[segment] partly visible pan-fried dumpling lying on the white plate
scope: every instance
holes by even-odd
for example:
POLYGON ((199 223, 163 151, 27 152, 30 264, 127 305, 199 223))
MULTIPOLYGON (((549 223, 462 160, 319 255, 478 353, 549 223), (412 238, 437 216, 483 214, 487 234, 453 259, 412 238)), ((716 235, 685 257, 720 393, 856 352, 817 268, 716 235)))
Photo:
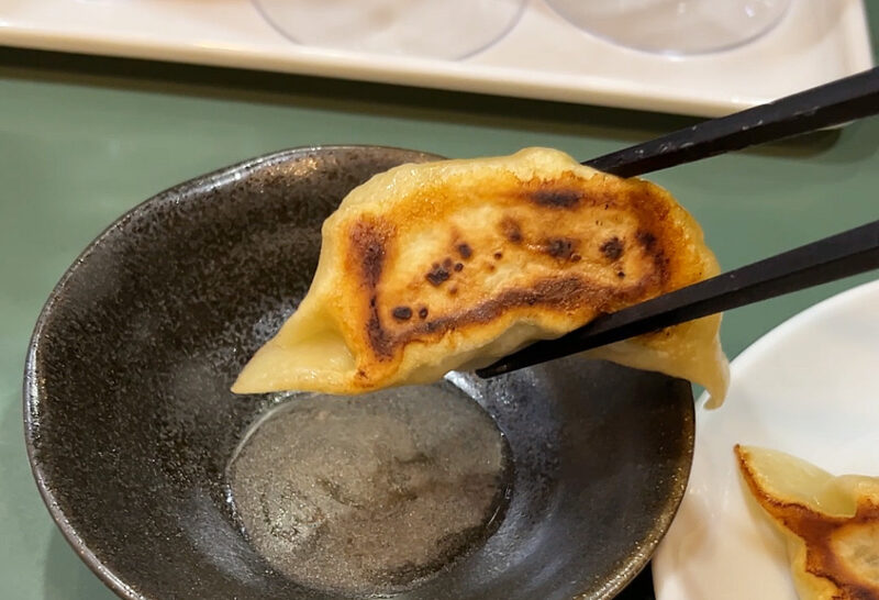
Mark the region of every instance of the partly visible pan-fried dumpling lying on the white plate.
POLYGON ((801 600, 879 598, 879 477, 834 477, 777 451, 736 446, 752 495, 788 542, 801 600))

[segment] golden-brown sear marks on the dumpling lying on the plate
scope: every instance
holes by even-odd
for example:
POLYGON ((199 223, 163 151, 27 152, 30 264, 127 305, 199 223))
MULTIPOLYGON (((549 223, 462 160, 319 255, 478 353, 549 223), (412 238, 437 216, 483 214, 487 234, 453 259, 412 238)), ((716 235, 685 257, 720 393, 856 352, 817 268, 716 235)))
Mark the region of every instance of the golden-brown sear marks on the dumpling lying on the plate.
MULTIPOLYGON (((757 502, 805 544, 805 569, 833 582, 838 589, 835 600, 876 600, 879 580, 865 577, 858 565, 839 556, 836 546, 849 537, 879 535, 879 505, 861 499, 854 516, 831 516, 797 502, 769 495, 758 482, 746 451, 736 444, 739 470, 757 502), (866 534, 865 534, 866 530, 866 534)), ((872 567, 879 570, 879 566, 872 567)))

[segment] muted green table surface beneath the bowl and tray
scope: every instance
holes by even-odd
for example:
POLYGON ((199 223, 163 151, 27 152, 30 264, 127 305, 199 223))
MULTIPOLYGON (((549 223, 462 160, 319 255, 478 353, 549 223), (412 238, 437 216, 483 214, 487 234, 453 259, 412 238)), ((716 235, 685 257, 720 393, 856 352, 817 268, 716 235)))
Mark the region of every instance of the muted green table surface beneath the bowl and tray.
MULTIPOLYGON (((879 40, 879 3, 868 2, 879 40)), ((22 370, 47 295, 111 221, 177 182, 259 154, 382 144, 449 157, 523 146, 586 159, 694 121, 646 112, 0 47, 0 598, 115 598, 77 558, 33 482, 22 370)), ((879 119, 650 178, 724 268, 879 218, 879 119)), ((735 357, 861 276, 738 309, 735 357)), ((624 593, 648 598, 649 576, 624 593)))

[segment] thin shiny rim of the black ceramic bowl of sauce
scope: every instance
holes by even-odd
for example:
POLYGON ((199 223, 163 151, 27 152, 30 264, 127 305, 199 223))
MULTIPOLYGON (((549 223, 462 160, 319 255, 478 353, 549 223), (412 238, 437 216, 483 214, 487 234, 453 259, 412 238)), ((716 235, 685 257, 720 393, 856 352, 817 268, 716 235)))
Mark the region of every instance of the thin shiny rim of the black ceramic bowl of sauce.
MULTIPOLYGON (((158 193, 138 202, 134 207, 127 209, 112 223, 110 223, 103 231, 101 231, 82 252, 77 255, 74 262, 60 276, 43 308, 40 311, 33 333, 27 344, 27 353, 24 362, 24 379, 22 386, 22 408, 23 408, 23 425, 24 425, 24 442, 27 454, 27 463, 31 467, 31 474, 36 482, 40 497, 43 503, 48 509, 49 515, 55 524, 60 530, 64 538, 73 547, 79 558, 97 575, 113 592, 120 598, 125 600, 156 600, 144 596, 136 591, 134 588, 125 584, 113 569, 103 564, 98 556, 88 547, 86 542, 79 535, 74 525, 70 524, 67 515, 59 507, 53 491, 49 489, 46 475, 43 471, 42 463, 36 452, 36 441, 38 437, 38 413, 40 404, 43 398, 38 389, 38 373, 37 373, 37 354, 42 346, 44 330, 47 326, 55 305, 59 297, 64 292, 68 282, 76 276, 80 265, 88 260, 94 252, 101 247, 105 240, 112 236, 120 227, 130 222, 131 220, 140 216, 148 211, 153 204, 160 203, 173 197, 181 197, 199 191, 200 188, 210 188, 216 185, 229 184, 242 178, 242 174, 248 175, 248 171, 257 170, 268 166, 274 166, 291 158, 303 155, 324 153, 324 152, 338 152, 338 151, 385 151, 392 153, 408 154, 410 156, 421 155, 429 159, 442 160, 445 157, 427 153, 423 151, 402 148, 398 146, 376 145, 376 144, 316 144, 310 146, 296 146, 285 148, 281 151, 263 154, 253 158, 241 160, 232 165, 221 167, 219 169, 205 173, 187 179, 173 187, 166 188, 158 193)), ((696 407, 692 401, 692 389, 689 393, 691 401, 686 404, 686 419, 681 423, 685 425, 680 434, 685 437, 686 452, 681 457, 681 471, 680 476, 675 478, 675 484, 671 486, 670 493, 665 502, 664 510, 657 514, 654 520, 653 526, 645 532, 643 548, 645 552, 632 553, 625 557, 617 567, 616 575, 608 580, 607 585, 600 591, 600 598, 610 599, 620 593, 632 580, 649 564, 650 558, 656 551, 659 542, 663 540, 665 533, 671 525, 671 521, 677 513, 683 495, 687 489, 690 469, 692 467, 692 456, 694 446, 694 430, 696 430, 696 407), (689 426, 686 426, 689 424, 689 426)), ((589 592, 578 595, 571 600, 583 600, 588 597, 589 592)))

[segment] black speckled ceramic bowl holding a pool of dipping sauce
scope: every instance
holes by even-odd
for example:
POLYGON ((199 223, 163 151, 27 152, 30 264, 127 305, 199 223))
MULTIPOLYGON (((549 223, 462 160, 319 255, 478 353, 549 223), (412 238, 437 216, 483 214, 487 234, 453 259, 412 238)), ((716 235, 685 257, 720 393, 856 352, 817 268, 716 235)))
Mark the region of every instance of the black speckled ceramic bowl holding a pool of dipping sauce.
MULTIPOLYGON (((346 192, 429 158, 305 148, 223 169, 132 210, 58 284, 27 356, 27 449, 58 526, 121 597, 334 597, 286 579, 241 533, 224 469, 276 399, 229 387, 308 289, 346 192)), ((483 545, 397 597, 614 596, 683 493, 689 385, 578 358, 458 384, 507 434, 510 504, 483 545)))

